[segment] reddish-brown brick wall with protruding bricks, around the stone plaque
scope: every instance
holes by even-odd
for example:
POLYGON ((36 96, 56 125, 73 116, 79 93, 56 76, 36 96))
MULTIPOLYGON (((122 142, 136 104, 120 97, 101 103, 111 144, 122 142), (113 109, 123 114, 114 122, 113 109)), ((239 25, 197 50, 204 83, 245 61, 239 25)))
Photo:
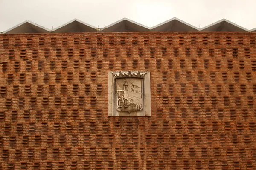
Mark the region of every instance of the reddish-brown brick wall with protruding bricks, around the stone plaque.
POLYGON ((0 169, 256 169, 256 34, 0 35, 0 169), (151 117, 108 117, 108 71, 151 117))

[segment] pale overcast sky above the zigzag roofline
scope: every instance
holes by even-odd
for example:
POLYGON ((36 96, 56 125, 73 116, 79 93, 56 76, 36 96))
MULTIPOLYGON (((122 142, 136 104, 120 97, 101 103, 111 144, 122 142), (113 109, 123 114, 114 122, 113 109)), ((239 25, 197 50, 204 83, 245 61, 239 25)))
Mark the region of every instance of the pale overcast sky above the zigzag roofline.
POLYGON ((103 28, 122 18, 152 27, 173 17, 203 28, 223 18, 256 28, 256 0, 0 0, 0 32, 30 20, 48 29, 77 18, 103 28))

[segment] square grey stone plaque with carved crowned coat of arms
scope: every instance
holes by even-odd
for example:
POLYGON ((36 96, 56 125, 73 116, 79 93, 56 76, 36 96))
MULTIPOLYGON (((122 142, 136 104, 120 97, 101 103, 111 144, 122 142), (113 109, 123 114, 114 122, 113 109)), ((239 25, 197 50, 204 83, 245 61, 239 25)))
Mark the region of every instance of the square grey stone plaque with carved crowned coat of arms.
POLYGON ((108 73, 108 116, 150 116, 150 102, 150 72, 108 73))

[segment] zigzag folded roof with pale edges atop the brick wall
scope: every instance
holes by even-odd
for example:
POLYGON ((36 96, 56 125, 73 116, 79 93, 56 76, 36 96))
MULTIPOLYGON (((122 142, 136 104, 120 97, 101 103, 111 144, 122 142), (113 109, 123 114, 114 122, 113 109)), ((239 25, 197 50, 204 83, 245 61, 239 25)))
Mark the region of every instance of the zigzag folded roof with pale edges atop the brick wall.
POLYGON ((73 19, 52 30, 33 23, 29 20, 24 21, 6 31, 3 34, 22 34, 22 33, 75 33, 75 32, 256 32, 256 28, 248 30, 229 20, 222 19, 215 23, 197 28, 176 17, 160 23, 153 27, 147 27, 135 21, 123 18, 104 28, 97 28, 81 20, 73 19))

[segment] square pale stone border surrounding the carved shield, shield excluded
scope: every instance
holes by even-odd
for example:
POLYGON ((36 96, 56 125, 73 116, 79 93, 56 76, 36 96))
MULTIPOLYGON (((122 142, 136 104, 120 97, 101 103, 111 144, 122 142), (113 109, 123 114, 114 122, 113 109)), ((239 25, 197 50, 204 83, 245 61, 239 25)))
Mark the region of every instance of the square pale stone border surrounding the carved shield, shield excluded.
MULTIPOLYGON (((121 71, 127 72, 127 71, 121 71)), ((133 73, 133 71, 131 71, 133 73)), ((137 71, 134 71, 137 73, 137 71)), ((143 78, 143 108, 141 111, 117 111, 116 110, 116 79, 113 74, 117 74, 119 71, 108 72, 108 116, 151 116, 151 83, 150 72, 140 72, 145 74, 143 78)), ((129 79, 128 77, 124 77, 129 79)), ((131 77, 136 78, 136 77, 131 77)))

